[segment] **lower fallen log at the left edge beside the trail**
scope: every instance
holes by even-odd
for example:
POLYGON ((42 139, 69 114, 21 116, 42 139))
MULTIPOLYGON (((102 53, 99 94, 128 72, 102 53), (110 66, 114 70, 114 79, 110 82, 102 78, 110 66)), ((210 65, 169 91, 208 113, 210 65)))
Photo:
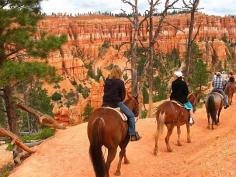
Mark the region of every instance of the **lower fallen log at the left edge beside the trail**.
POLYGON ((14 133, 7 131, 3 128, 0 128, 0 136, 4 136, 4 137, 8 137, 12 140, 11 144, 15 144, 16 146, 18 146, 19 148, 23 149, 24 151, 28 152, 28 153, 34 153, 35 151, 30 149, 28 146, 26 146, 21 140, 20 138, 15 135, 14 133))

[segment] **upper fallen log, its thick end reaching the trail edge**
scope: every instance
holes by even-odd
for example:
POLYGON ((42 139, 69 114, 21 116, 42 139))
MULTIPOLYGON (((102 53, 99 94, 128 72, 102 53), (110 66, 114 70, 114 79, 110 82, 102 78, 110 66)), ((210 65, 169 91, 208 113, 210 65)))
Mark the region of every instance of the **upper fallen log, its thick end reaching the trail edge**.
POLYGON ((25 104, 22 104, 22 103, 18 103, 16 106, 17 106, 17 108, 20 108, 26 112, 33 114, 36 117, 39 124, 46 125, 48 127, 55 128, 55 129, 65 129, 66 128, 64 124, 59 124, 53 117, 51 117, 48 114, 43 114, 40 111, 35 110, 35 109, 33 109, 29 106, 26 106, 25 104))

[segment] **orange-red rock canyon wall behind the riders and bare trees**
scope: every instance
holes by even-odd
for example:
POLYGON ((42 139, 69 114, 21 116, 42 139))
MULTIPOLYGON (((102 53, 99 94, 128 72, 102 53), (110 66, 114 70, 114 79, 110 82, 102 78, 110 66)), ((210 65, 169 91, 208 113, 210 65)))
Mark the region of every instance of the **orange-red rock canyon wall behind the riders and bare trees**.
MULTIPOLYGON (((167 23, 164 25, 156 49, 168 53, 177 48, 183 57, 189 19, 188 14, 168 16, 166 21, 171 25, 167 25, 167 23)), ((154 23, 157 24, 157 22, 158 17, 155 17, 154 23)), ((89 61, 94 61, 93 68, 95 70, 103 68, 105 76, 108 72, 104 70, 104 67, 110 64, 119 64, 122 68, 126 67, 127 58, 116 50, 117 46, 129 42, 131 39, 132 26, 126 18, 49 16, 41 20, 38 26, 41 31, 46 31, 49 34, 67 35, 68 42, 62 46, 60 51, 51 53, 48 58, 48 63, 55 66, 58 73, 65 76, 65 78, 73 78, 76 81, 85 83, 88 80, 88 70, 85 65, 89 61), (101 55, 101 48, 105 41, 108 41, 113 47, 107 47, 104 55, 101 55)), ((144 45, 148 43, 146 26, 147 24, 144 23, 140 30, 140 40, 144 45)), ((203 58, 211 63, 213 50, 215 50, 218 58, 225 60, 227 47, 221 38, 226 35, 232 42, 236 42, 236 18, 208 16, 198 13, 194 35, 198 28, 199 33, 196 36, 196 42, 203 52, 203 58)), ((128 45, 124 45, 123 49, 127 50, 127 47, 128 45)), ((81 110, 80 112, 82 112, 86 103, 90 103, 94 108, 101 105, 103 85, 96 84, 94 81, 88 87, 90 96, 85 101, 79 101, 78 109, 81 110)), ((81 115, 82 113, 80 113, 81 115)))

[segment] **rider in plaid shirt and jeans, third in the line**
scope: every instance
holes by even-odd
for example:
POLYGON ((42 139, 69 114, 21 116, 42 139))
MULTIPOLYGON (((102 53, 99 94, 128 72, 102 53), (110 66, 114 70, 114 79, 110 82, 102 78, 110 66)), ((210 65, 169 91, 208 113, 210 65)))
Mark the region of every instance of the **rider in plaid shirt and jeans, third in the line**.
POLYGON ((225 95, 225 92, 223 90, 224 84, 225 84, 224 82, 225 81, 222 78, 221 73, 217 72, 216 77, 214 77, 213 81, 212 81, 212 86, 213 86, 212 92, 220 92, 221 93, 221 95, 224 97, 224 108, 226 109, 229 107, 229 104, 228 104, 228 98, 225 95))

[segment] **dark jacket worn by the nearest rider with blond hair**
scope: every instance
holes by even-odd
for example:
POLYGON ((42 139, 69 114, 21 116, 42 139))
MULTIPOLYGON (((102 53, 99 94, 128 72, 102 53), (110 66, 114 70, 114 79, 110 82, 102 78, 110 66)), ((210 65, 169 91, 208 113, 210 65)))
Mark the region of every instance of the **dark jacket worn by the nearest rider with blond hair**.
POLYGON ((118 107, 117 103, 125 99, 125 84, 120 79, 106 79, 104 85, 103 106, 118 107))

